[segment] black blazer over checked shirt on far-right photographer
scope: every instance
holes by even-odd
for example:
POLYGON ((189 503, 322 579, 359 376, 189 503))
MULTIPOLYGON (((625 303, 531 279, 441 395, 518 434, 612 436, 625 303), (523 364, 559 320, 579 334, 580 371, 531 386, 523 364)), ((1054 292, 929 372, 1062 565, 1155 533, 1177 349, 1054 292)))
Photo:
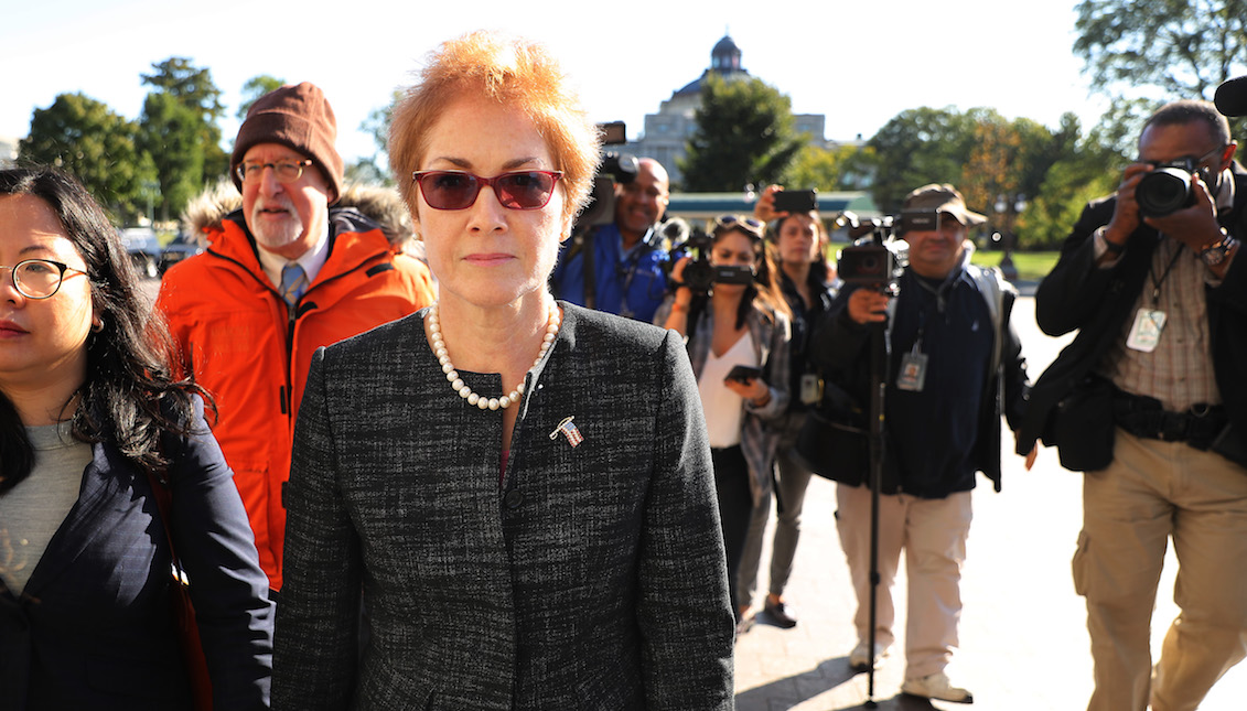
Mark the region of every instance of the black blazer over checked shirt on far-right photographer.
MULTIPOLYGON (((1240 241, 1247 239, 1247 172, 1233 163, 1235 205, 1218 221, 1240 241)), ((1152 252, 1160 238, 1142 225, 1126 242, 1121 261, 1110 269, 1095 266, 1095 231, 1112 218, 1115 197, 1091 202, 1061 246, 1061 258, 1035 293, 1035 318, 1049 336, 1079 334, 1031 388, 1019 450, 1041 438, 1056 444, 1051 425, 1057 403, 1094 372, 1119 339, 1126 319, 1148 278, 1152 252)), ((1247 254, 1235 256, 1217 287, 1206 287, 1208 332, 1217 388, 1243 447, 1247 447, 1247 379, 1238 368, 1247 363, 1247 254)))

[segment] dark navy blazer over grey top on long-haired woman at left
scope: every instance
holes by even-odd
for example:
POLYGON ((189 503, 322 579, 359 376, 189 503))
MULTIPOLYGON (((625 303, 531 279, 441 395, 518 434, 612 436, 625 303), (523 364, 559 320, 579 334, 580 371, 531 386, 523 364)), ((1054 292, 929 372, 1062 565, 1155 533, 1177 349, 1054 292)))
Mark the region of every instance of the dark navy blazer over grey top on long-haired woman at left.
MULTIPOLYGON (((170 467, 182 559, 217 709, 268 707, 273 617, 233 474, 196 399, 170 467)), ((170 438, 172 439, 172 438, 170 438)), ((35 485, 26 480, 19 485, 35 485)), ((0 710, 187 710, 172 558, 147 475, 94 445, 79 500, 21 596, 0 583, 0 710)))

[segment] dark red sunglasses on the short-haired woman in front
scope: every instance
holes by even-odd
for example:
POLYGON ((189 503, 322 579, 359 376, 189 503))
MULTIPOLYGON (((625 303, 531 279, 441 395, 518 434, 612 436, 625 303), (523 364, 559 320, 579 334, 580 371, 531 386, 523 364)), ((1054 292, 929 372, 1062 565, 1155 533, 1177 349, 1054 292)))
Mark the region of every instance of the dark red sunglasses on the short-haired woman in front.
POLYGON ((562 177, 556 171, 511 171, 491 178, 463 171, 415 171, 424 202, 434 210, 466 210, 476 202, 480 188, 493 186, 498 202, 508 210, 541 210, 554 196, 562 177))

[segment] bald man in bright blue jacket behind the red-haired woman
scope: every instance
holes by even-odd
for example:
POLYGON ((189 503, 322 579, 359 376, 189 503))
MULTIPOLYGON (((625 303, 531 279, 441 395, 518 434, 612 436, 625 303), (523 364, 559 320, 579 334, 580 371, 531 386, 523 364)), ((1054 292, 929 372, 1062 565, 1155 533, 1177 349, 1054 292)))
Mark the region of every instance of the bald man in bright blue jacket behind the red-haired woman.
POLYGON ((671 200, 666 168, 637 160, 637 172, 615 190, 615 220, 576 235, 550 277, 555 297, 650 322, 667 292, 668 256, 657 232, 671 200))

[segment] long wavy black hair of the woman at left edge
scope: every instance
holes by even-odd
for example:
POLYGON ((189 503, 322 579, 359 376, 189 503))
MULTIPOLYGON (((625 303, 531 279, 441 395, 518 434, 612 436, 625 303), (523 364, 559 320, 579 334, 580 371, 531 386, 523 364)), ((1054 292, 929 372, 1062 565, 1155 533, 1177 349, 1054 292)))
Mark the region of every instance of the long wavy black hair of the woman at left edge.
MULTIPOLYGON (((138 276, 104 208, 74 177, 49 167, 0 171, 0 197, 29 195, 56 215, 86 262, 91 306, 102 322, 86 341, 86 382, 71 420, 74 437, 107 442, 148 470, 168 460, 162 433, 190 434, 191 380, 173 377, 173 344, 161 316, 140 293, 138 276)), ((74 402, 65 403, 69 407, 74 402)), ((0 390, 0 495, 30 475, 34 449, 12 402, 0 390)))

